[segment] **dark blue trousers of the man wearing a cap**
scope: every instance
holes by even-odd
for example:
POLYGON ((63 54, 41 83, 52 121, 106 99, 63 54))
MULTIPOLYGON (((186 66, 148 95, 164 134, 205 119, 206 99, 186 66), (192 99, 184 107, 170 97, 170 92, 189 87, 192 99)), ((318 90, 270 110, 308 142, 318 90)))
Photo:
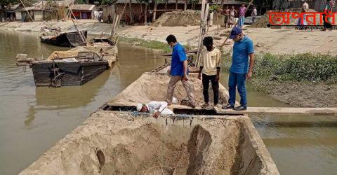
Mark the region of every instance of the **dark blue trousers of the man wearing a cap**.
POLYGON ((230 72, 230 80, 228 81, 228 92, 230 93, 230 99, 228 103, 231 106, 235 104, 236 89, 240 94, 240 104, 241 106, 247 106, 247 95, 246 95, 246 73, 233 73, 230 72))

